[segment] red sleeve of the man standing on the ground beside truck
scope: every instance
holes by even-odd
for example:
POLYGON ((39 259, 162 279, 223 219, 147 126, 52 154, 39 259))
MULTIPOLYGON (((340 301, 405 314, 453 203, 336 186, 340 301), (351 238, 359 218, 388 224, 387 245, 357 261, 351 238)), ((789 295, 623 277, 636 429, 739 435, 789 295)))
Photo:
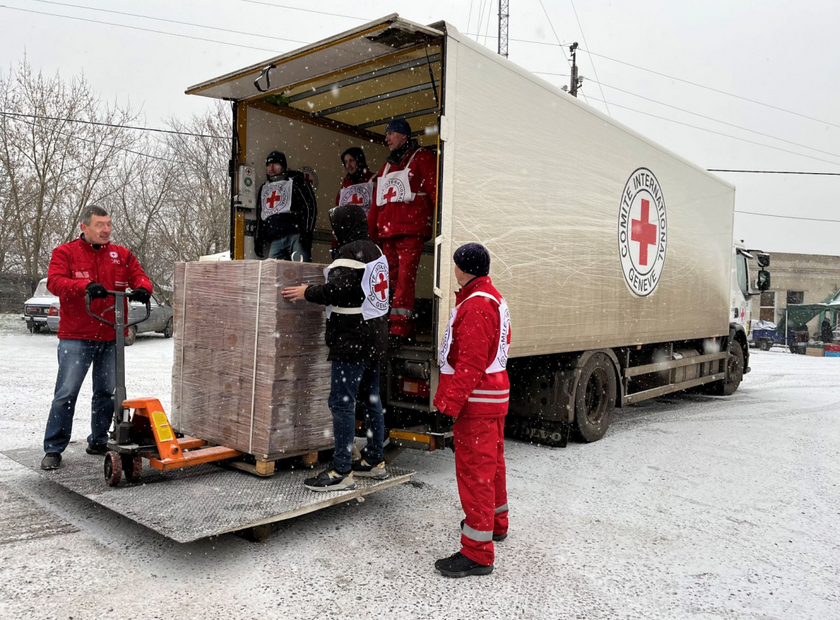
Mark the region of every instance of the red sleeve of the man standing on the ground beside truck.
POLYGON ((490 308, 492 302, 474 300, 462 306, 456 319, 453 339, 458 343, 455 374, 447 382, 446 390, 438 390, 434 405, 446 415, 458 417, 470 394, 484 376, 496 347, 499 312, 490 308))

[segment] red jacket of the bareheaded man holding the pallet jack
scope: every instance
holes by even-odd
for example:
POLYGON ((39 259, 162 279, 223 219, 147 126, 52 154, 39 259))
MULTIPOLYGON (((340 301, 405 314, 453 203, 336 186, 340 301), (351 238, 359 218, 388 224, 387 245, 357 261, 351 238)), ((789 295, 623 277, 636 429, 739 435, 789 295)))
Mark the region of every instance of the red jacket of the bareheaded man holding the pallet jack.
MULTIPOLYGON (((102 340, 116 338, 114 328, 97 321, 85 309, 85 287, 98 282, 109 291, 143 287, 152 292, 152 283, 140 262, 126 248, 109 243, 98 250, 79 237, 53 250, 47 272, 47 288, 61 300, 58 337, 70 340, 102 340)), ((91 312, 114 322, 114 298, 94 299, 91 312)), ((126 304, 125 320, 128 319, 126 304)))

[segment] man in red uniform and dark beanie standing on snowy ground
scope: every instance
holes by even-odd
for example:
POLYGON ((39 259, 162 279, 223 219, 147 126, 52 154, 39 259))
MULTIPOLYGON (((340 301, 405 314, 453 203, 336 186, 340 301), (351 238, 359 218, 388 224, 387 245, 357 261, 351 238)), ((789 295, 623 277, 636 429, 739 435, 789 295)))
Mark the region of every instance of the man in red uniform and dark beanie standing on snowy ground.
POLYGON ((510 313, 490 281, 490 254, 479 243, 455 251, 461 290, 440 348, 434 404, 455 418, 455 473, 464 509, 461 550, 435 562, 447 577, 493 572, 493 541, 507 537, 505 415, 510 313))

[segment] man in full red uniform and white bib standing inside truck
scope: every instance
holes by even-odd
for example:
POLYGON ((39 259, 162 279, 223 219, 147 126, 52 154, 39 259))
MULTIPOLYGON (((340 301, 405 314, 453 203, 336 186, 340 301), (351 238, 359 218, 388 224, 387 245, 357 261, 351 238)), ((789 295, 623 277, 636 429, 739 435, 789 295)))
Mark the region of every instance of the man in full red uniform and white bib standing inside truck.
POLYGON ((391 274, 391 340, 396 346, 414 338, 414 288, 423 242, 432 236, 437 204, 437 159, 417 140, 411 127, 395 119, 385 128, 391 149, 376 178, 376 201, 368 213, 370 237, 388 259, 391 274))

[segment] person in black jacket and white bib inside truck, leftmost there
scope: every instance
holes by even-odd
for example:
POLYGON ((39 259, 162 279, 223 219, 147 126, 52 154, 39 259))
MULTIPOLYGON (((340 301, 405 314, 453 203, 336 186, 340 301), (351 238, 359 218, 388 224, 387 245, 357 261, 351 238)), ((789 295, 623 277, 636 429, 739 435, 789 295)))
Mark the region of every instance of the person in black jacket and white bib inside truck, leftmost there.
POLYGON ((308 263, 318 216, 315 192, 303 173, 288 170, 285 153, 271 151, 265 158, 265 172, 267 179, 257 192, 254 252, 262 258, 263 244, 268 242, 269 258, 308 263))

